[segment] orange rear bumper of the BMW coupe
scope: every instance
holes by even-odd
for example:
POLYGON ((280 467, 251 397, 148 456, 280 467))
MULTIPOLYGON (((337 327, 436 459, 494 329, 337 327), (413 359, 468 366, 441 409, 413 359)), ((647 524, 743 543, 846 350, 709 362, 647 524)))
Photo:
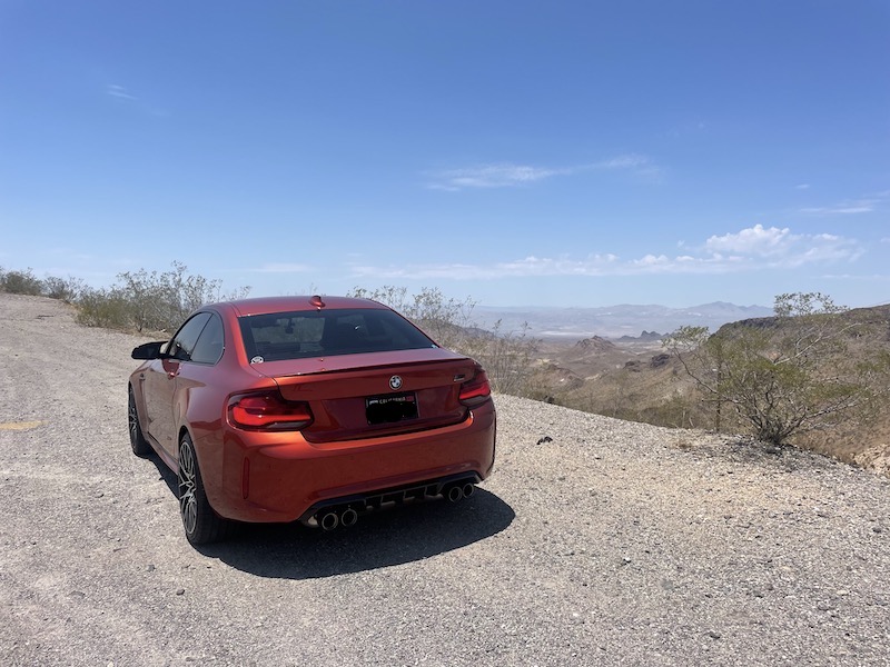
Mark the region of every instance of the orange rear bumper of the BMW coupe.
POLYGON ((437 495, 448 480, 485 479, 494 466, 495 431, 491 401, 461 424, 383 438, 313 445, 293 432, 230 431, 205 487, 225 518, 314 525, 319 508, 374 508, 386 494, 396 494, 388 504, 400 490, 437 495))

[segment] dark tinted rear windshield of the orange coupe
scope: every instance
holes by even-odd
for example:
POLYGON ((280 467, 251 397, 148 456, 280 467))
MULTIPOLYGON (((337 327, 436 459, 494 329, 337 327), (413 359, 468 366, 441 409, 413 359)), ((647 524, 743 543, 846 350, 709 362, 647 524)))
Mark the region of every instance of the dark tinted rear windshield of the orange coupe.
POLYGON ((332 309, 238 318, 251 364, 436 347, 392 310, 332 309))

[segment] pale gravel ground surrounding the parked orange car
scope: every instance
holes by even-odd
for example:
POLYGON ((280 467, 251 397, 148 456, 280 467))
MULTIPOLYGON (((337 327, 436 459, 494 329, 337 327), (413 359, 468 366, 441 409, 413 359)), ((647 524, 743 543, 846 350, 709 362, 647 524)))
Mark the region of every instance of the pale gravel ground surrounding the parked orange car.
POLYGON ((464 502, 196 550, 138 342, 0 295, 3 665, 890 665, 887 478, 498 396, 464 502))

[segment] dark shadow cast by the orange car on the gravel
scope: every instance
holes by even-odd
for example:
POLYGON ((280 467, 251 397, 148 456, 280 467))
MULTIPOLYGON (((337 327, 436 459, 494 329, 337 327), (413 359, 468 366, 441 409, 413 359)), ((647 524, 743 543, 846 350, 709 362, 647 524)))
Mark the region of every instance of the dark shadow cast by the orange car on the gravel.
MULTIPOLYGON (((149 458, 176 498, 176 475, 156 456, 149 458)), ((459 549, 497 535, 515 516, 501 498, 477 488, 459 502, 443 499, 405 505, 363 515, 355 526, 330 532, 300 524, 241 524, 227 541, 197 550, 259 577, 314 579, 459 549)))

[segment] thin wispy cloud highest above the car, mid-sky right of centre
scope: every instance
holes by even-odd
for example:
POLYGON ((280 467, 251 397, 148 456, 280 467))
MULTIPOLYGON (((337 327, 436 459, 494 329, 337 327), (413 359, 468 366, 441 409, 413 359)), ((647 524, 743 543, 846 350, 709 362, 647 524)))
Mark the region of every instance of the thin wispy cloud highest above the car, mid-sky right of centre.
POLYGON ((532 165, 497 162, 459 169, 447 169, 427 176, 432 177, 428 186, 429 188, 458 191, 471 188, 516 188, 531 186, 556 176, 572 176, 591 170, 631 170, 635 173, 647 176, 657 173, 659 171, 652 159, 636 153, 629 153, 574 167, 535 167, 532 165))

